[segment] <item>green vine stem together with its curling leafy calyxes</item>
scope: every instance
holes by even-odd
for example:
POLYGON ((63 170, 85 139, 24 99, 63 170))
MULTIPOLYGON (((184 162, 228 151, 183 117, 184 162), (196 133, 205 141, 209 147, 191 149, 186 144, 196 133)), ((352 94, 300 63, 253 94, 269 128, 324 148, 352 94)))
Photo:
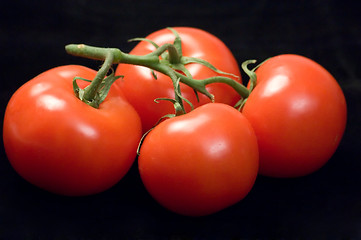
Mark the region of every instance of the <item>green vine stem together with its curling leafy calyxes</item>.
MULTIPOLYGON (((104 61, 96 77, 85 89, 80 89, 76 84, 76 80, 80 78, 76 78, 74 80, 74 92, 76 96, 90 106, 95 108, 99 107, 99 104, 105 99, 106 94, 110 89, 110 85, 119 78, 114 76, 113 73, 109 76, 106 76, 112 64, 127 63, 148 67, 152 70, 153 76, 155 78, 156 71, 169 76, 173 82, 175 91, 174 102, 177 103, 177 108, 181 109, 183 113, 185 113, 184 102, 191 105, 191 107, 193 106, 187 99, 182 97, 182 94, 179 90, 180 82, 192 87, 197 97, 198 93, 201 93, 206 95, 209 99, 211 99, 211 101, 214 101, 214 96, 208 92, 206 85, 216 82, 230 85, 235 91, 237 91, 237 93, 240 94, 242 99, 246 99, 248 97, 249 90, 239 82, 230 78, 230 76, 238 76, 222 72, 202 59, 183 56, 181 38, 179 34, 172 28, 168 29, 175 35, 175 40, 172 44, 158 46, 151 40, 144 38, 135 38, 130 40, 147 41, 153 44, 156 50, 144 56, 126 54, 117 48, 99 48, 84 44, 67 45, 65 49, 71 55, 104 61), (222 74, 224 76, 215 76, 200 80, 193 79, 192 75, 185 67, 185 65, 190 63, 202 64, 212 69, 216 73, 222 74)), ((179 115, 179 110, 177 111, 177 114, 179 115)))

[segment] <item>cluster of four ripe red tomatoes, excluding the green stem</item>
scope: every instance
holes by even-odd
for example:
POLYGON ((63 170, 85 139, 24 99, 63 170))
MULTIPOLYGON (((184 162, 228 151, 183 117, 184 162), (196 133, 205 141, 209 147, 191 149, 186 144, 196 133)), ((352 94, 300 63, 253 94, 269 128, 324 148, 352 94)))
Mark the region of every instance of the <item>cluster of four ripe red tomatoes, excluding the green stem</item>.
MULTIPOLYGON (((218 38, 195 28, 174 30, 182 40, 182 54, 205 60, 242 84, 234 77, 240 76, 237 61, 218 38)), ((149 57, 157 46, 177 38, 163 29, 147 39, 131 54, 149 57)), ((114 79, 106 96, 92 94, 104 99, 98 108, 80 101, 83 93, 74 94, 74 83, 87 89, 91 84, 84 79, 97 76, 83 66, 50 69, 14 93, 3 139, 19 175, 53 193, 90 195, 116 184, 138 152, 139 175, 150 195, 171 211, 202 216, 242 200, 258 174, 282 178, 315 172, 331 158, 345 130, 340 86, 303 56, 265 61, 252 71, 247 96, 224 82, 208 84, 205 91, 215 102, 182 82, 178 93, 166 71, 127 61, 118 65, 115 73, 124 77, 114 79), (187 99, 185 112, 157 124, 174 107, 171 101, 154 100, 177 96, 187 99), (236 109, 240 99, 242 107, 236 109)), ((222 75, 198 63, 185 68, 180 72, 199 83, 222 75)))

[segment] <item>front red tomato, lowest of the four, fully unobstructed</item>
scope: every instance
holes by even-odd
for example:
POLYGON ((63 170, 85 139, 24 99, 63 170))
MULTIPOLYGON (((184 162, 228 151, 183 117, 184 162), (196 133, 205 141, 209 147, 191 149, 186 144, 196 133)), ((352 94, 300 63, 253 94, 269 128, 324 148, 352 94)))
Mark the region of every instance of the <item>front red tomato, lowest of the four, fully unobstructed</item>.
POLYGON ((151 130, 138 167, 144 186, 162 206, 182 215, 208 215, 251 190, 258 173, 257 139, 239 111, 205 104, 151 130))

